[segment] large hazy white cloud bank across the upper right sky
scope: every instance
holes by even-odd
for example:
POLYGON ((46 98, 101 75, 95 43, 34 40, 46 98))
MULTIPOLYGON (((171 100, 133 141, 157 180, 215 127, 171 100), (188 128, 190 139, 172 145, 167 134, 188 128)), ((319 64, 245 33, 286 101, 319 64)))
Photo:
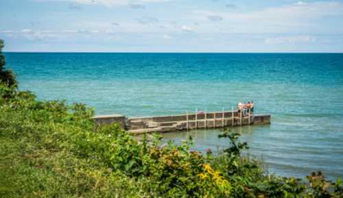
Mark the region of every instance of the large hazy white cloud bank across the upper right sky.
MULTIPOLYGON (((201 23, 197 32, 250 34, 343 34, 343 3, 318 1, 290 3, 249 12, 193 10, 188 19, 201 23), (222 25, 209 23, 209 16, 220 16, 222 25), (326 23, 335 21, 337 25, 326 23)), ((218 18, 219 19, 219 18, 218 18)))

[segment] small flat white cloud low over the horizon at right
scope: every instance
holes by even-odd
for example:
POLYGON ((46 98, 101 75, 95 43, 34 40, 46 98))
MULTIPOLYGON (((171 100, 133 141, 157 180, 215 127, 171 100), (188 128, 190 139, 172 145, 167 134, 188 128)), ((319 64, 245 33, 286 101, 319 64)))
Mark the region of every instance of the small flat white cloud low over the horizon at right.
POLYGON ((314 43, 316 38, 314 36, 281 36, 272 37, 264 40, 264 43, 274 45, 274 44, 296 44, 296 43, 314 43))

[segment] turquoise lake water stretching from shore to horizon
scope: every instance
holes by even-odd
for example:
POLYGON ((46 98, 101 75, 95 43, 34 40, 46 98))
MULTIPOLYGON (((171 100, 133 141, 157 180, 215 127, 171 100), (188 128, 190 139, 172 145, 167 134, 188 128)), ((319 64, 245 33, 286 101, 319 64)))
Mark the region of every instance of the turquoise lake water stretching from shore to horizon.
MULTIPOLYGON (((254 100, 268 126, 236 128, 276 175, 343 177, 343 54, 6 53, 20 89, 97 114, 171 115, 254 100)), ((196 148, 226 146, 191 131, 196 148)), ((179 141, 187 132, 166 133, 179 141)))

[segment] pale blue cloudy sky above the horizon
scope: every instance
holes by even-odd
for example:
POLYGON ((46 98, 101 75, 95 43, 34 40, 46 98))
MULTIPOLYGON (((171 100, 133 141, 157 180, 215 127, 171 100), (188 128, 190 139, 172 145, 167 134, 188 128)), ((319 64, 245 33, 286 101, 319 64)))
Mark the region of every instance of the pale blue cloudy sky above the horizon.
POLYGON ((343 0, 0 0, 0 39, 5 52, 343 52, 343 0))

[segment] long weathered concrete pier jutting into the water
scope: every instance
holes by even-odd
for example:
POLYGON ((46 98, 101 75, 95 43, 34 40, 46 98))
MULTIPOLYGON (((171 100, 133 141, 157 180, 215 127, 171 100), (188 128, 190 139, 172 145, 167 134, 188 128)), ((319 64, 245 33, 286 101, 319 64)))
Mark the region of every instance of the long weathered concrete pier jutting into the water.
POLYGON ((126 118, 124 115, 98 115, 98 124, 118 122, 129 133, 152 133, 182 131, 191 129, 214 129, 248 124, 270 124, 270 115, 240 116, 237 111, 211 113, 189 113, 156 117, 126 118))

